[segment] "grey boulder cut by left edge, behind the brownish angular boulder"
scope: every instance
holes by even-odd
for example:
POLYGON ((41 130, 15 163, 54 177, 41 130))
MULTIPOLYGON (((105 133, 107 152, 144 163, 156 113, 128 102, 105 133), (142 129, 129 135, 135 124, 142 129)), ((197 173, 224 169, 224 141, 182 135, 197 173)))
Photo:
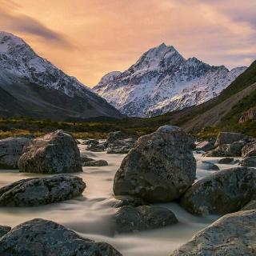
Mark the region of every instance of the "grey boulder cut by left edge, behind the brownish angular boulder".
POLYGON ((0 140, 0 169, 17 169, 23 147, 30 138, 5 138, 0 140))

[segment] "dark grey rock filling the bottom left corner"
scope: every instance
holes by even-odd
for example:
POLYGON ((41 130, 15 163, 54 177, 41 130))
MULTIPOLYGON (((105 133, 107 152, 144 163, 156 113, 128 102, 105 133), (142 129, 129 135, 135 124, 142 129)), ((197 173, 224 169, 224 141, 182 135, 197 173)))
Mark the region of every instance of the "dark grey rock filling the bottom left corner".
POLYGON ((82 238, 58 223, 43 219, 24 222, 2 237, 0 255, 122 256, 106 242, 82 238))

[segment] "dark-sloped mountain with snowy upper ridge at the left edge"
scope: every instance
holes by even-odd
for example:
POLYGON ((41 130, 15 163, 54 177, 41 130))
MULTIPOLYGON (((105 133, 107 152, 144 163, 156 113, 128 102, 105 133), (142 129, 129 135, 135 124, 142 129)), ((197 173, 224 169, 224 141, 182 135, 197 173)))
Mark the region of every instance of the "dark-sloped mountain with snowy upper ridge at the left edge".
POLYGON ((122 118, 105 99, 6 32, 0 32, 0 115, 54 120, 122 118))

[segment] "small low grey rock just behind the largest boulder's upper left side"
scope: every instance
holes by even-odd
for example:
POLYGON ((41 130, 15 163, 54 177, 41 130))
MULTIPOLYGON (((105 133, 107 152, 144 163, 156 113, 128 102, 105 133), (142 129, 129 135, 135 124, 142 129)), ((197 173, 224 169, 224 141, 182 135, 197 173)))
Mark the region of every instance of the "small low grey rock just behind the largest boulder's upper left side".
POLYGON ((134 138, 126 138, 123 140, 108 143, 106 147, 106 153, 127 154, 132 149, 136 141, 137 140, 135 140, 134 138))

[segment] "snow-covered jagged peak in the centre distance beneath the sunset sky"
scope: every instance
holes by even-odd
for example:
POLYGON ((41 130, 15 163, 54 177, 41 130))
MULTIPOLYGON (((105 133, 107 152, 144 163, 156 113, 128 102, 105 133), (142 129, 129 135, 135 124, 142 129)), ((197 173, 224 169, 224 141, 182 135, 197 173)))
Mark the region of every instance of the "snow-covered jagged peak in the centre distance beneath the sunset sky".
POLYGON ((244 70, 185 59, 174 46, 162 43, 123 73, 106 74, 93 90, 123 114, 152 117, 216 97, 244 70))

